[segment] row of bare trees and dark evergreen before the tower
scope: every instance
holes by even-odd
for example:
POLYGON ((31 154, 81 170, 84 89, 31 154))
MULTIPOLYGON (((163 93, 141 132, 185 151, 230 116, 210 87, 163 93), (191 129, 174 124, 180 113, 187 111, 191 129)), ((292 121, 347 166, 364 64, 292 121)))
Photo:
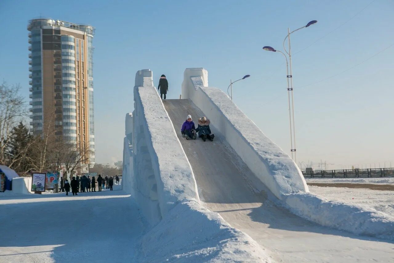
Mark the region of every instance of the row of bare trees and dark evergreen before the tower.
POLYGON ((20 85, 0 85, 0 164, 15 170, 19 175, 32 171, 65 171, 70 177, 89 159, 90 152, 78 150, 56 132, 62 129, 54 109, 47 117, 42 131, 28 126, 28 109, 20 85), (57 128, 59 127, 59 128, 57 128))

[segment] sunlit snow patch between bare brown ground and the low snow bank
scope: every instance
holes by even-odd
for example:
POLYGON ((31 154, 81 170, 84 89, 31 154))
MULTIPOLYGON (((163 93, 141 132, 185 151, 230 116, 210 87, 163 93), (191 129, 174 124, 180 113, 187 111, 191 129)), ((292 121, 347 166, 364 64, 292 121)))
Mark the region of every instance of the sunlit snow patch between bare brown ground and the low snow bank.
POLYGON ((394 191, 320 186, 309 186, 309 190, 331 201, 357 205, 366 211, 383 212, 394 221, 394 191))

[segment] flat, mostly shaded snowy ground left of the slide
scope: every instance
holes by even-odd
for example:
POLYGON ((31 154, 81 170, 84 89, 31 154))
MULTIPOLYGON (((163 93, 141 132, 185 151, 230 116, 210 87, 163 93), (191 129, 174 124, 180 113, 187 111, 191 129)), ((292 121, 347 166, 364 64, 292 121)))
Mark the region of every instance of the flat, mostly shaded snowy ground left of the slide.
POLYGON ((0 196, 0 262, 131 262, 144 226, 120 188, 0 196))

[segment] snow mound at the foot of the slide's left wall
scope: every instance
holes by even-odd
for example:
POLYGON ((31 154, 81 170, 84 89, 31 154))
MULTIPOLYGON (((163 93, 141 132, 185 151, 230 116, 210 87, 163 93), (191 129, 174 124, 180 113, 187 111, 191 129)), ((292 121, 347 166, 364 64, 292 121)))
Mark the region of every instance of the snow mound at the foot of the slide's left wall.
POLYGON ((142 237, 140 262, 270 262, 264 249, 197 200, 186 200, 142 237))

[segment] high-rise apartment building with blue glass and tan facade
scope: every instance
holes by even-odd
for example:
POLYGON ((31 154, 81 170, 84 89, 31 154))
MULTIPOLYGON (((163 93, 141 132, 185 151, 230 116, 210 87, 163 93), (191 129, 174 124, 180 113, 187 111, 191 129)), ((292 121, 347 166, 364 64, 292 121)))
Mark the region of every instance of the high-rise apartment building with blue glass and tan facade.
POLYGON ((92 43, 95 28, 59 20, 33 19, 29 21, 28 30, 31 44, 30 124, 39 133, 52 129, 56 138, 91 151, 88 163, 93 164, 92 43))

